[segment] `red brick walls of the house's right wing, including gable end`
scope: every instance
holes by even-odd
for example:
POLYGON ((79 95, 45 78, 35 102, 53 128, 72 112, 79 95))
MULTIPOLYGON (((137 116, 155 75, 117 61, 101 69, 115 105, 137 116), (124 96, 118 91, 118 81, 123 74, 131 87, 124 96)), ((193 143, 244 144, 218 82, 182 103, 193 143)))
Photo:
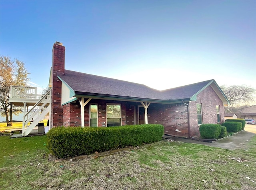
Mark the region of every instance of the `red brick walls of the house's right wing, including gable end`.
POLYGON ((199 126, 197 121, 196 103, 202 104, 203 123, 217 123, 216 105, 220 106, 221 122, 224 122, 224 107, 218 95, 211 86, 205 88, 197 96, 196 101, 190 101, 189 104, 189 122, 188 106, 186 104, 150 104, 148 107, 148 123, 158 123, 164 125, 164 133, 174 136, 189 137, 198 136, 199 126), (178 132, 176 131, 178 129, 178 132))

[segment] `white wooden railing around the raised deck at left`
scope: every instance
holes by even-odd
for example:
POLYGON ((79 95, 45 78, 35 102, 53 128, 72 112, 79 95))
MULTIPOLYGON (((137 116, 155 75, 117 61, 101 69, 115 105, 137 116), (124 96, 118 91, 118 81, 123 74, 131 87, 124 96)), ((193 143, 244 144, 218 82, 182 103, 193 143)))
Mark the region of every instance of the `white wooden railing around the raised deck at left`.
MULTIPOLYGON (((37 94, 36 87, 30 86, 11 86, 11 96, 10 98, 18 99, 41 99, 44 97, 42 94, 37 94)), ((46 96, 45 99, 48 99, 46 96)))

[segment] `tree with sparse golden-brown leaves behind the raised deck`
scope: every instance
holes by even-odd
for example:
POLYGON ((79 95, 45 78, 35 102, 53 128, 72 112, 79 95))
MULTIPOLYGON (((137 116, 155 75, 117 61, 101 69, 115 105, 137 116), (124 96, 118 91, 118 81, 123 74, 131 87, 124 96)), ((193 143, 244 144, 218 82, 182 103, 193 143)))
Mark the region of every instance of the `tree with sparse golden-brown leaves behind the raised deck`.
POLYGON ((20 109, 9 102, 10 86, 26 86, 29 78, 24 63, 10 57, 0 57, 0 108, 4 110, 7 126, 12 125, 12 113, 18 114, 20 109), (10 120, 9 120, 10 115, 10 120))

